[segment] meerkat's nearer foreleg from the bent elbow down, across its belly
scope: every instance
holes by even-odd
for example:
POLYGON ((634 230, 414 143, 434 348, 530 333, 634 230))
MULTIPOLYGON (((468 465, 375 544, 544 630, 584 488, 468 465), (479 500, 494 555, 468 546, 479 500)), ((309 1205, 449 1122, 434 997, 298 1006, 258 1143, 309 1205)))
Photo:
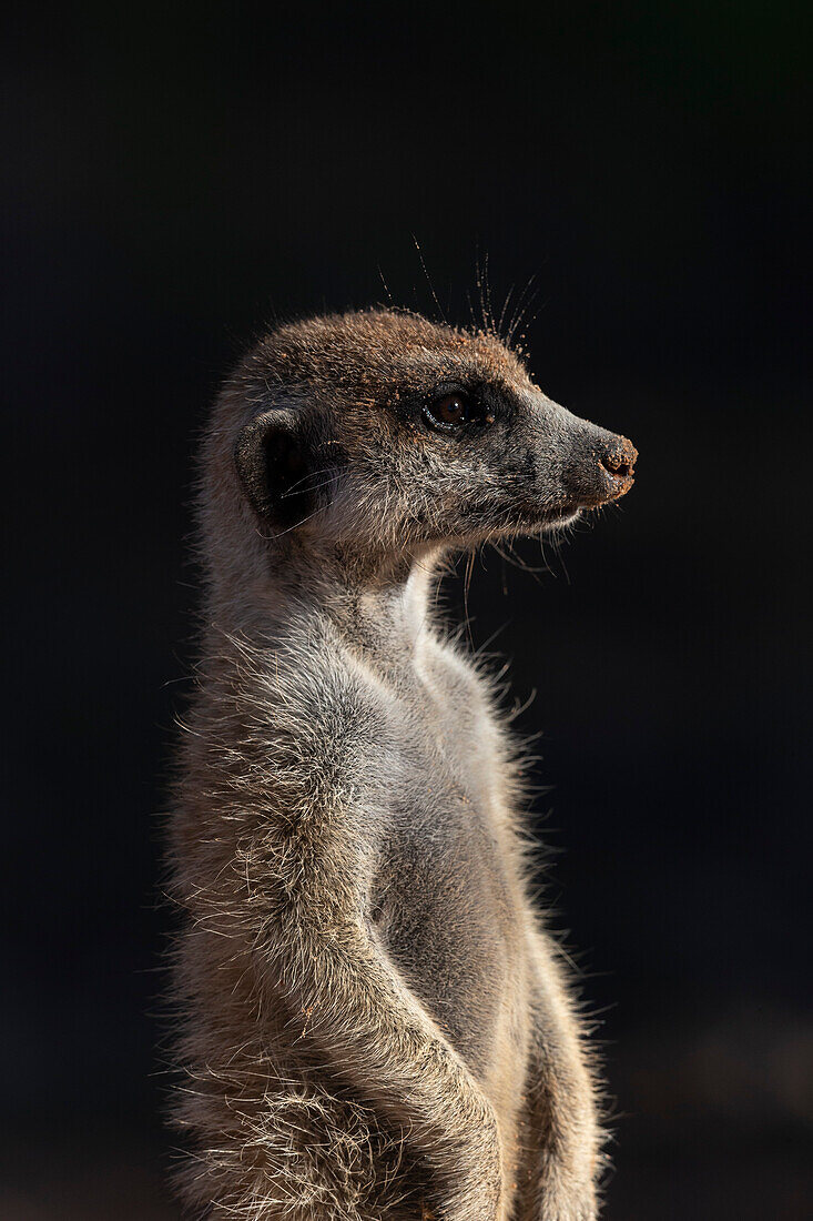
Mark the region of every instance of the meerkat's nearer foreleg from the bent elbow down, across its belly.
MULTIPOLYGON (((358 899, 353 907, 359 910, 358 899)), ((427 1215, 507 1221, 494 1111, 476 1081, 353 911, 314 917, 308 904, 277 940, 269 976, 306 1015, 327 1066, 403 1131, 430 1171, 427 1215), (430 1210, 431 1206, 431 1210, 430 1210)))

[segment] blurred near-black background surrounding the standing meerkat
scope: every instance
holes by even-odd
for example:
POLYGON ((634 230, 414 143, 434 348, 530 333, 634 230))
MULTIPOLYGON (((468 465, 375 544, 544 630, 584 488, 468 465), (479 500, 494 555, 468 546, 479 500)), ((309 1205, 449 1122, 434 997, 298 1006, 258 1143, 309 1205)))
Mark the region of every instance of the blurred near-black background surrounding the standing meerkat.
POLYGON ((156 812, 194 438, 275 317, 436 313, 414 234, 453 320, 486 258, 497 309, 535 276, 537 380, 641 452, 549 573, 486 552, 469 608, 537 692, 549 896, 615 1099, 607 1216, 803 1217, 803 6, 123 7, 21 10, 2 50, 0 1212, 177 1216, 156 812))

